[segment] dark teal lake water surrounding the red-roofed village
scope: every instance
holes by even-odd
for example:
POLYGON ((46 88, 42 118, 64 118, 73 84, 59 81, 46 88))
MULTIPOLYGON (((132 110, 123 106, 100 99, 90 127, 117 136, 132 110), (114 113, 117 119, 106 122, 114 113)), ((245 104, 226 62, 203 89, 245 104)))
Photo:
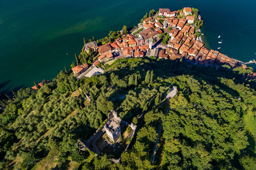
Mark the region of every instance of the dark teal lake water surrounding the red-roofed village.
MULTIPOLYGON (((159 7, 199 8, 208 48, 230 57, 256 59, 256 1, 0 0, 0 92, 34 86, 70 68, 83 37, 101 39, 123 25, 133 27, 159 7), (218 35, 223 40, 220 46, 218 35)), ((253 66, 253 65, 252 65, 253 66)))

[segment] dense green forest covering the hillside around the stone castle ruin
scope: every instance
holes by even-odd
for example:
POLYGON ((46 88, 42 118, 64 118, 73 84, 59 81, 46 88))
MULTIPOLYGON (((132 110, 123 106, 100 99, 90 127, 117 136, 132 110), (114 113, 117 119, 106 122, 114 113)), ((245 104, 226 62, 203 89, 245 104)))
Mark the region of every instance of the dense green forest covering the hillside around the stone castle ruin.
POLYGON ((2 101, 0 169, 255 169, 256 83, 241 68, 123 58, 105 69, 80 80, 61 71, 38 91, 21 89, 2 101), (172 86, 178 94, 166 101, 172 86), (120 163, 76 147, 112 109, 138 126, 120 163))

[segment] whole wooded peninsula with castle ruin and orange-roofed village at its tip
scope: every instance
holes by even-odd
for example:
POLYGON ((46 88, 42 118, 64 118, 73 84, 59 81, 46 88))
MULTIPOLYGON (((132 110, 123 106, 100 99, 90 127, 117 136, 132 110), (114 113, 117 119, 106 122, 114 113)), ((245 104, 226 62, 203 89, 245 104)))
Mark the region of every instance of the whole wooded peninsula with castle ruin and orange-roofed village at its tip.
POLYGON ((196 8, 84 39, 71 69, 0 96, 0 169, 251 169, 256 81, 196 8))

